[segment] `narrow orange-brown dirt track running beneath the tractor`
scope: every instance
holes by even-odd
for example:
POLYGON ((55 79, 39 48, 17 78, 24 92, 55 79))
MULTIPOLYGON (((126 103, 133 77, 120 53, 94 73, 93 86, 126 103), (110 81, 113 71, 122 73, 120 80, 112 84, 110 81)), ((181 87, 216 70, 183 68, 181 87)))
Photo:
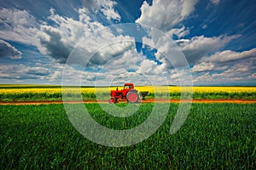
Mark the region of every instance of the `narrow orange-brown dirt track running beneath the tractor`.
MULTIPOLYGON (((106 103, 107 100, 97 101, 97 100, 84 100, 84 104, 92 103, 106 103)), ((141 101, 142 103, 179 103, 179 102, 191 102, 188 99, 145 99, 141 101)), ((256 104, 256 99, 193 99, 193 103, 234 103, 234 104, 256 104)), ((68 101, 68 104, 79 104, 81 101, 68 101)), ((119 103, 126 103, 125 100, 119 101, 119 103)), ((63 104, 62 101, 23 101, 23 102, 0 102, 0 105, 49 105, 49 104, 63 104)))

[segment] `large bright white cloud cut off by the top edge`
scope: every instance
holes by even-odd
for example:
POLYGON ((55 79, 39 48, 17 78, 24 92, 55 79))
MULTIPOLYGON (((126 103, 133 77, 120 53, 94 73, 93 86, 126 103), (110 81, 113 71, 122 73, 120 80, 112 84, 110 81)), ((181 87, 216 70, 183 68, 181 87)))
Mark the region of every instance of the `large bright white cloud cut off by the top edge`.
POLYGON ((197 0, 154 0, 152 6, 144 1, 140 18, 136 23, 153 26, 161 31, 170 31, 173 26, 189 17, 195 10, 197 0))

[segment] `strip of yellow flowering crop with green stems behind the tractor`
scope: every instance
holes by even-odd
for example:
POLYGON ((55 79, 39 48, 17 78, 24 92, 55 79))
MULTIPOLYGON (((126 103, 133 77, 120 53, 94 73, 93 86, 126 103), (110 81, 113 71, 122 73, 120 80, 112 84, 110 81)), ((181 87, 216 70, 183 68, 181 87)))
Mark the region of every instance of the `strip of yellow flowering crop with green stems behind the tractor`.
MULTIPOLYGON (((108 100, 112 88, 67 88, 70 100, 81 95, 84 100, 108 100)), ((119 87, 121 89, 122 87, 119 87)), ((148 91, 146 99, 180 99, 180 87, 136 87, 148 91), (156 93, 154 93, 156 92, 156 93), (155 97, 157 96, 157 97, 155 97)), ((193 99, 256 99, 255 87, 193 87, 193 99)), ((2 85, 0 102, 61 101, 61 86, 2 85)))

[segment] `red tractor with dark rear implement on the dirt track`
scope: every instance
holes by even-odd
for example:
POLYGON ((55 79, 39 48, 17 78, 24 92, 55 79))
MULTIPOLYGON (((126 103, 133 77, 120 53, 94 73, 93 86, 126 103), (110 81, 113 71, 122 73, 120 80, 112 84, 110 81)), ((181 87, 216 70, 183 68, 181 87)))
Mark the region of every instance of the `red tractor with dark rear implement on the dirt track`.
POLYGON ((117 102, 117 99, 126 99, 129 103, 137 103, 139 100, 139 94, 141 94, 144 99, 148 92, 139 93, 137 89, 134 88, 133 83, 125 83, 124 89, 119 90, 117 87, 116 90, 111 90, 109 103, 114 104, 117 102))

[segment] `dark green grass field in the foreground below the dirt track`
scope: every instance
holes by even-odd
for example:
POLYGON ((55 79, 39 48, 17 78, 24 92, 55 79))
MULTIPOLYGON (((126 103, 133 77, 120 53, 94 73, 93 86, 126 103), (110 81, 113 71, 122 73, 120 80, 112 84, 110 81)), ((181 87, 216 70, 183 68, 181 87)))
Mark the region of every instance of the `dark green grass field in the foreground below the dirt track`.
MULTIPOLYGON (((255 169, 256 105, 193 104, 183 127, 170 135, 177 106, 171 104, 166 121, 151 137, 114 148, 85 139, 68 121, 63 105, 0 105, 0 167, 255 169)), ((102 125, 124 129, 147 119, 153 104, 125 118, 108 116, 97 104, 86 107, 102 125)))

